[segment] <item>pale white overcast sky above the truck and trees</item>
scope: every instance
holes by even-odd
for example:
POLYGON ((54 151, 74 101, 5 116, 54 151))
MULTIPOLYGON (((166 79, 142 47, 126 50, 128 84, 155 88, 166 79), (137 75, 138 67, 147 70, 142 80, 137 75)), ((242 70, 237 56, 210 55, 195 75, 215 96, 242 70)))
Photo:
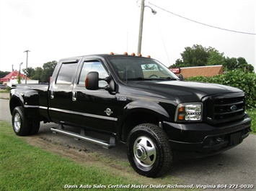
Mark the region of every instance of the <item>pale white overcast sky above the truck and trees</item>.
MULTIPOLYGON (((0 0, 0 70, 12 71, 12 65, 19 70, 21 62, 25 69, 25 50, 30 50, 27 67, 33 68, 65 57, 136 53, 139 5, 137 0, 0 0)), ((244 57, 256 70, 255 33, 256 0, 146 0, 141 54, 169 66, 185 47, 202 45, 225 57, 244 57)))

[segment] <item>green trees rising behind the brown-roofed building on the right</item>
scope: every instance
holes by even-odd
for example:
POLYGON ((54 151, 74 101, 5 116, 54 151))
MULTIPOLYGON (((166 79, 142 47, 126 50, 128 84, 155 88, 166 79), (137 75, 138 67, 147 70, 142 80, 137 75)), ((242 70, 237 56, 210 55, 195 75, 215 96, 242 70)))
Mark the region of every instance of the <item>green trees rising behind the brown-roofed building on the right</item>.
POLYGON ((249 64, 244 57, 225 57, 224 53, 220 53, 213 47, 203 47, 202 45, 193 45, 193 47, 185 47, 185 50, 180 54, 181 58, 175 61, 173 67, 193 67, 207 65, 223 65, 224 70, 243 70, 247 73, 252 73, 254 67, 249 64))

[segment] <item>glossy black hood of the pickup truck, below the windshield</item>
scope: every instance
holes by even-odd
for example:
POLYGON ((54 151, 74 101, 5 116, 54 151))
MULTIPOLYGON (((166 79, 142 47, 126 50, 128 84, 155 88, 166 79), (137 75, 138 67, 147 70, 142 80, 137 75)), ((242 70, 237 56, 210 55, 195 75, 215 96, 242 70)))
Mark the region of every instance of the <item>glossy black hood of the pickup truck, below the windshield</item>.
POLYGON ((167 98, 178 102, 201 101, 206 95, 242 92, 238 88, 213 83, 196 83, 180 80, 172 81, 134 81, 128 86, 139 88, 140 94, 147 96, 167 98))

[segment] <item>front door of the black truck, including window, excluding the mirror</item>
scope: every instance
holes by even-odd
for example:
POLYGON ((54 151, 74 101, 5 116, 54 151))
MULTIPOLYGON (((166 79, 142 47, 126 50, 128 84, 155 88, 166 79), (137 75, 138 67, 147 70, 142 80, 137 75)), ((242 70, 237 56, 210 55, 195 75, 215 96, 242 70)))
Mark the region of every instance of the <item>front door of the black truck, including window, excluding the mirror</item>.
MULTIPOLYGON (((97 71, 100 78, 108 76, 103 60, 100 58, 84 59, 80 65, 80 73, 78 73, 73 89, 72 122, 87 128, 115 132, 118 118, 115 95, 111 95, 104 89, 87 90, 85 88, 85 78, 89 72, 97 71)), ((100 87, 106 85, 104 80, 99 83, 100 87)))

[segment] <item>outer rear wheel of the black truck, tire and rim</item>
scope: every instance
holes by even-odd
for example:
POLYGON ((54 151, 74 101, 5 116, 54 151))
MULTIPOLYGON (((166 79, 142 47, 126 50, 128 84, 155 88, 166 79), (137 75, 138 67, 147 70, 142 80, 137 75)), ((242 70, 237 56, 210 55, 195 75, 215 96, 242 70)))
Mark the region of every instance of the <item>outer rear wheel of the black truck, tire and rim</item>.
POLYGON ((12 112, 12 128, 18 136, 26 136, 30 134, 30 121, 25 117, 25 113, 21 106, 14 108, 12 112))

